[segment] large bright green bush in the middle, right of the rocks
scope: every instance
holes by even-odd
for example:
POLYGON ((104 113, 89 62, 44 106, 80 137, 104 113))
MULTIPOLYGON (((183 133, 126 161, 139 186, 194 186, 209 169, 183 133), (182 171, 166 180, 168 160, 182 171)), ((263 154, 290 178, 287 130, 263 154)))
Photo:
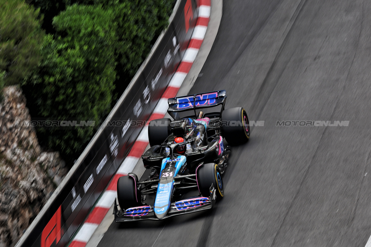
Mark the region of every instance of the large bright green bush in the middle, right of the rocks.
MULTIPOLYGON (((44 59, 24 91, 39 116, 95 121, 109 112, 115 80, 115 20, 112 10, 73 5, 55 17, 55 39, 43 43, 44 59)), ((38 129, 40 142, 69 156, 82 150, 93 127, 38 129), (41 136, 41 138, 40 138, 41 136)))

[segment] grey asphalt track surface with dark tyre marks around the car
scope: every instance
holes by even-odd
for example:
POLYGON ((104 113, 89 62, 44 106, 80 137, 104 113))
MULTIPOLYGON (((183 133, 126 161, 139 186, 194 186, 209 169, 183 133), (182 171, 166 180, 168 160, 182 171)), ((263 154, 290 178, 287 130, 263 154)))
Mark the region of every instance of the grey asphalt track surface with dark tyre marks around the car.
POLYGON ((365 246, 371 234, 371 1, 224 0, 191 89, 226 89, 251 138, 207 213, 112 223, 99 246, 365 246), (348 120, 348 127, 280 127, 348 120), (366 176, 365 174, 368 173, 366 176))

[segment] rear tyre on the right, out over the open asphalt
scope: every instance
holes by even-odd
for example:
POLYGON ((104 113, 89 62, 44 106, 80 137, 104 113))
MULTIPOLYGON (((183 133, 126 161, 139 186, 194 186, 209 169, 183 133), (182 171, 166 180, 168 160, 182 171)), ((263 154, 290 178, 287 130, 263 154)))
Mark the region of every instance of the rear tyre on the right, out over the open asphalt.
POLYGON ((221 133, 230 145, 236 146, 249 140, 250 125, 245 109, 226 109, 221 113, 221 121, 221 133))

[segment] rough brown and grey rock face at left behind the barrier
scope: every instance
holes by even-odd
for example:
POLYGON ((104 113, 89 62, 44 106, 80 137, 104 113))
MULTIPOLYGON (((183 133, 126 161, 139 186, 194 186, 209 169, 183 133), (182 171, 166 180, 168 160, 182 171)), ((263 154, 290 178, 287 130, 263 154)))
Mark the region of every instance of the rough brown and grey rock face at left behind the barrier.
POLYGON ((14 246, 68 170, 58 152, 42 152, 19 87, 0 103, 0 247, 14 246), (22 126, 23 125, 23 126, 22 126))

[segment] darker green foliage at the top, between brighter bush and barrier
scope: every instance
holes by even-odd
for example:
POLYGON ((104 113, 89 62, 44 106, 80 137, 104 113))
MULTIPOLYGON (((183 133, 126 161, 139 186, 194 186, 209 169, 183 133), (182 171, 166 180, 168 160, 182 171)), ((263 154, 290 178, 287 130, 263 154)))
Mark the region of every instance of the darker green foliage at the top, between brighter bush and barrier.
POLYGON ((67 0, 66 4, 102 5, 114 11, 119 73, 131 77, 151 50, 151 43, 168 24, 174 0, 67 0))

